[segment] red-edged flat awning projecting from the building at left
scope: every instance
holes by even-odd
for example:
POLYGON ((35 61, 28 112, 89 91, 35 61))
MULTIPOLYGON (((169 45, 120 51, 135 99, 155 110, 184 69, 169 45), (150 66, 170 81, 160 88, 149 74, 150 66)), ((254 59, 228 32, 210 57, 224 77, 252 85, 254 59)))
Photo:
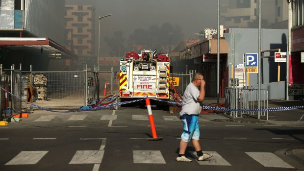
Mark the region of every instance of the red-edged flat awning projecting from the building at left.
POLYGON ((0 47, 15 50, 42 49, 42 51, 47 51, 49 54, 60 53, 65 59, 78 59, 78 56, 71 50, 66 49, 49 38, 0 37, 0 47))

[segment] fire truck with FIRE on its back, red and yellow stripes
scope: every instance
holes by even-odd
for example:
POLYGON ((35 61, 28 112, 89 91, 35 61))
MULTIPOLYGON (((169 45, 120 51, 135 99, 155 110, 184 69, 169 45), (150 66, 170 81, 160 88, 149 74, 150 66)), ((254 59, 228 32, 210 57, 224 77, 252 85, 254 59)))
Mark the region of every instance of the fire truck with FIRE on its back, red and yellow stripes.
POLYGON ((156 50, 129 52, 120 61, 120 99, 169 99, 170 55, 156 50))

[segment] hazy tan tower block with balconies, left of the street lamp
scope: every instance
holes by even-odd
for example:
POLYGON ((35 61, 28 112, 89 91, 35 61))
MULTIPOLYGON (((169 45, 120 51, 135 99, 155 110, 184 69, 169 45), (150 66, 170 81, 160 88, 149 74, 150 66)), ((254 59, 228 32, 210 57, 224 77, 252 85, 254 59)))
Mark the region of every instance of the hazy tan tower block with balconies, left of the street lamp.
POLYGON ((82 68, 85 63, 91 66, 97 61, 95 7, 66 5, 65 8, 66 47, 79 56, 79 59, 74 61, 76 68, 82 68))

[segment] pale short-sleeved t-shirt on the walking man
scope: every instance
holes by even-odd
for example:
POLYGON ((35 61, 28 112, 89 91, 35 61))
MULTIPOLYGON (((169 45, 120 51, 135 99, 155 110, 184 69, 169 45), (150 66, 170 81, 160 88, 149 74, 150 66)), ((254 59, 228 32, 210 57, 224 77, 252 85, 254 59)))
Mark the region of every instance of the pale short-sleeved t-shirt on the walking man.
POLYGON ((202 111, 203 104, 198 101, 200 90, 191 82, 186 87, 182 97, 182 108, 179 115, 199 115, 202 111))

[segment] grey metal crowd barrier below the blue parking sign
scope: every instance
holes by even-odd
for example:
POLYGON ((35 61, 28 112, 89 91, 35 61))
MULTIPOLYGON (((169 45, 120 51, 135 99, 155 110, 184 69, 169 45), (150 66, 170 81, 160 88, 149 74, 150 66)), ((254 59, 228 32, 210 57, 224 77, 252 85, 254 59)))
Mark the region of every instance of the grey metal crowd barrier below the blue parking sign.
MULTIPOLYGON (((230 109, 239 109, 239 110, 255 110, 258 109, 258 90, 249 89, 249 88, 230 88, 225 87, 225 107, 230 109)), ((268 91, 261 91, 261 107, 268 108, 268 91)), ((257 116, 258 112, 249 111, 249 112, 230 112, 230 116, 243 117, 243 115, 248 116, 257 116)), ((266 117, 268 120, 268 111, 261 111, 260 116, 266 117)))

